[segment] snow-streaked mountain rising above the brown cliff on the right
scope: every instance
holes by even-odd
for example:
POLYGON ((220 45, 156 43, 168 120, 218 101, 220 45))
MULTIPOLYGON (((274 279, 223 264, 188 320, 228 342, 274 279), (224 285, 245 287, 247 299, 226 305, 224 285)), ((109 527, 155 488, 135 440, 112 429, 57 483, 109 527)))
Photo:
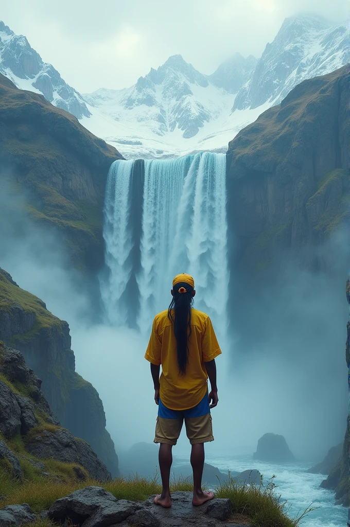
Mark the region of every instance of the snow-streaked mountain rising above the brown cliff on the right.
POLYGON ((329 27, 322 18, 286 18, 267 44, 251 79, 238 92, 232 110, 279 104, 297 84, 337 70, 349 62, 345 25, 329 27))

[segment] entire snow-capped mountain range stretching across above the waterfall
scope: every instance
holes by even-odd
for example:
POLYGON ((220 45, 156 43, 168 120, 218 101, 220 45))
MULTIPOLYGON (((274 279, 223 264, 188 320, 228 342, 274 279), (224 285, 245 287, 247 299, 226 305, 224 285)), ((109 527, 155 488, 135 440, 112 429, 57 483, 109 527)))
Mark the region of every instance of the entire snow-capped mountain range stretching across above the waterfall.
POLYGON ((345 24, 297 16, 284 21, 259 60, 236 53, 216 72, 203 75, 181 55, 173 55, 129 88, 81 95, 42 62, 24 36, 0 23, 0 38, 1 73, 76 115, 126 158, 225 152, 239 130, 296 84, 349 61, 345 24))

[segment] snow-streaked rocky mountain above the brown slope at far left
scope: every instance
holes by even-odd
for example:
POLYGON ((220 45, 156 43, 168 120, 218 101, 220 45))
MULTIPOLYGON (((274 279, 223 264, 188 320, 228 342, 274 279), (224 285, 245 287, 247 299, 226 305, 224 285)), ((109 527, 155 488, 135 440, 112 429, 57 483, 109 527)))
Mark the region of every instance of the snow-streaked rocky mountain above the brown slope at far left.
POLYGON ((48 101, 81 119, 90 115, 81 95, 66 84, 51 64, 42 61, 23 35, 0 21, 0 73, 22 90, 42 93, 48 101))

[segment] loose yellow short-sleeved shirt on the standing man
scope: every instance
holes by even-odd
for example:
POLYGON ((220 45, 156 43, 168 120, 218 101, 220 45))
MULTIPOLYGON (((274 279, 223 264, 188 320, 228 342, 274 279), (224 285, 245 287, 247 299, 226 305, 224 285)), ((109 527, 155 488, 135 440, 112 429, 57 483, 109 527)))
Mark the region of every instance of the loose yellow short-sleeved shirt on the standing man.
POLYGON ((144 356, 150 363, 162 366, 160 399, 172 410, 186 410, 202 400, 207 392, 208 379, 204 363, 221 353, 208 315, 192 308, 191 329, 184 375, 179 373, 176 337, 168 311, 162 311, 154 317, 144 356))

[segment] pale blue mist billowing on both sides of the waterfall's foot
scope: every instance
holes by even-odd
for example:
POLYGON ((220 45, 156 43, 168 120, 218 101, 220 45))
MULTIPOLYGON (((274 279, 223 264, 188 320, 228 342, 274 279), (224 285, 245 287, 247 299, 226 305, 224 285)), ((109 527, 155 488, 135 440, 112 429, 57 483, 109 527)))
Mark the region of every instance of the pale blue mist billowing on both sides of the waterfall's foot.
MULTIPOLYGON (((102 398, 116 452, 139 441, 151 443, 157 406, 143 358, 148 338, 99 324, 100 314, 93 313, 86 285, 84 290, 69 268, 59 233, 40 231, 18 196, 4 189, 1 196, 0 266, 69 322, 76 370, 102 398)), ((285 436, 297 457, 318 459, 342 441, 347 408, 345 240, 346 233, 338 231, 324 248, 325 255, 336 255, 333 277, 289 264, 284 280, 261 285, 256 297, 247 294, 235 334, 217 358, 219 404, 212 411, 215 442, 206 446, 208 453, 249 454, 261 435, 274 432, 285 436)), ((174 454, 188 451, 183 430, 174 454)))

